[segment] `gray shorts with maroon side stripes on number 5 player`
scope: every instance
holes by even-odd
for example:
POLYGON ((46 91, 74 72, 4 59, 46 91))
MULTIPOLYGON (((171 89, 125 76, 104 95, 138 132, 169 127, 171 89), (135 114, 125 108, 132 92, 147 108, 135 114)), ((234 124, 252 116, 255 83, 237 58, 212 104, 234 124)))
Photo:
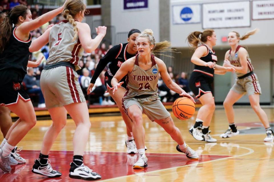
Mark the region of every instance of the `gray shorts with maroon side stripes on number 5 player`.
POLYGON ((41 73, 40 85, 47 109, 86 102, 78 74, 70 67, 44 69, 41 73))

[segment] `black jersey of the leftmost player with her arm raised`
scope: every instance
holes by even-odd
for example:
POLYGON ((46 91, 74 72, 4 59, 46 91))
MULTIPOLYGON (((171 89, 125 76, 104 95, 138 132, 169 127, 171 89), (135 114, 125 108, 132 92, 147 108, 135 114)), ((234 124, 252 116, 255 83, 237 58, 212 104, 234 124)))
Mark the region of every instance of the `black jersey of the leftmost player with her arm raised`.
POLYGON ((29 61, 29 46, 31 45, 31 35, 29 40, 20 40, 15 35, 16 27, 12 28, 11 37, 4 51, 0 54, 0 71, 12 69, 17 73, 27 74, 29 61))

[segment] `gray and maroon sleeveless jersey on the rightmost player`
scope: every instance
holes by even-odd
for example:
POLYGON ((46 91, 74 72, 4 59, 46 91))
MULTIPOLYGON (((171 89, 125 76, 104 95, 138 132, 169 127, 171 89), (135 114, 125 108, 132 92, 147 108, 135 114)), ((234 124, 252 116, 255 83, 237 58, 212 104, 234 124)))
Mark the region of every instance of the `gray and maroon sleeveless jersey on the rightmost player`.
MULTIPOLYGON (((238 56, 238 51, 239 51, 240 47, 242 47, 242 46, 238 46, 236 48, 234 56, 231 56, 231 54, 230 54, 231 53, 231 49, 229 50, 229 58, 228 59, 229 59, 231 65, 236 66, 236 67, 241 67, 240 58, 238 56)), ((249 73, 249 72, 253 71, 253 66, 251 65, 251 59, 249 58, 248 53, 247 53, 246 59, 247 59, 247 67, 248 67, 247 73, 249 73)), ((243 76, 245 74, 244 73, 238 73, 238 72, 236 72, 236 75, 237 75, 237 77, 239 77, 239 76, 243 76)))

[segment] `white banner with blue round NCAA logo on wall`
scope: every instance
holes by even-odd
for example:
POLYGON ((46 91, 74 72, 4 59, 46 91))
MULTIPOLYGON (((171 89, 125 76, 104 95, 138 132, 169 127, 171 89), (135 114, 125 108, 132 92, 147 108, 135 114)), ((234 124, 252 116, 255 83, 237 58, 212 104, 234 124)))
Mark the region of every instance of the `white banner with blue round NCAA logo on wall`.
POLYGON ((201 5, 172 5, 172 23, 190 24, 201 22, 201 5))

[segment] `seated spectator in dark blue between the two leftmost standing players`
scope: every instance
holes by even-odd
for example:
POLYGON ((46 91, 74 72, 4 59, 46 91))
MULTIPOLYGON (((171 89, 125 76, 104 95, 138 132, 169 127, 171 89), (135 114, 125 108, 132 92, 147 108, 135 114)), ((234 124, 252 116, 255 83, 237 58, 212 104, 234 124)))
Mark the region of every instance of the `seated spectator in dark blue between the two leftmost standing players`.
POLYGON ((39 95, 38 107, 45 108, 46 107, 45 99, 42 94, 41 88, 39 86, 37 86, 36 78, 33 76, 33 68, 29 67, 27 69, 27 75, 23 79, 23 83, 25 84, 28 94, 38 94, 39 95))

